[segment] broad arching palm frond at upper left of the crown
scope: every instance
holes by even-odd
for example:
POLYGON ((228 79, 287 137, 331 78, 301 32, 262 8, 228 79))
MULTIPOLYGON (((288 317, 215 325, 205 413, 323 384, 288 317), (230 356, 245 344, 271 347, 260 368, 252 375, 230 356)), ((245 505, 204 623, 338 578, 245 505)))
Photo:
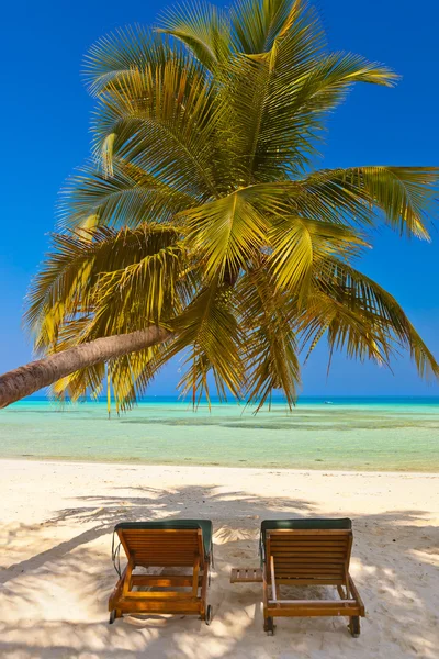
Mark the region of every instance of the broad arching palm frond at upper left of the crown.
POLYGON ((189 194, 216 197, 212 134, 221 115, 211 81, 189 58, 132 70, 100 97, 94 152, 115 135, 115 156, 189 194))

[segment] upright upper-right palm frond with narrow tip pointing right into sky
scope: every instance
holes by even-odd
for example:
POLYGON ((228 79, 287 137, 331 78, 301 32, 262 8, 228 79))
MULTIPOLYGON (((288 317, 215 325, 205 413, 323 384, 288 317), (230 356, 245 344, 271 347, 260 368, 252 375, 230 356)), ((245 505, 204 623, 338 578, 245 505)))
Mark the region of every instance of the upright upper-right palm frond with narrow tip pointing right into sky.
POLYGON ((306 12, 296 13, 271 51, 238 54, 218 76, 245 185, 297 176, 318 154, 327 113, 354 82, 392 86, 396 79, 389 68, 363 57, 327 54, 314 16, 306 12))

